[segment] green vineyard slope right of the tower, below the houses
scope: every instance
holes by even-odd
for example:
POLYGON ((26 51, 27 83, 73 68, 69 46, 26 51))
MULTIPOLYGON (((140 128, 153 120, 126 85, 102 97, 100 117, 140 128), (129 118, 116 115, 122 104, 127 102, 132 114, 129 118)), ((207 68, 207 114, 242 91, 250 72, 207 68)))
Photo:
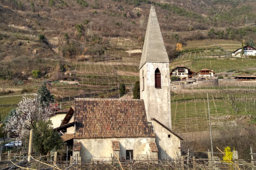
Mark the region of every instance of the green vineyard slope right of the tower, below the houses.
MULTIPOLYGON (((219 125, 236 126, 240 115, 256 116, 255 91, 215 91, 208 94, 213 129, 219 125)), ((209 126, 206 92, 174 93, 172 96, 172 127, 175 132, 207 130, 209 126)))

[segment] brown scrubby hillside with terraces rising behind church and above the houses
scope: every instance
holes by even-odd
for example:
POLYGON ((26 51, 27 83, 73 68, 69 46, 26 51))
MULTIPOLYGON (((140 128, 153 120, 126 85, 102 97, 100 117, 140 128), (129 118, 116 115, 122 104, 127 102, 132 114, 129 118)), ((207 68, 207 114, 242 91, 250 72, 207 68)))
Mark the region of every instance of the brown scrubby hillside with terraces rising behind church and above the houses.
POLYGON ((210 58, 256 42, 252 0, 0 0, 1 119, 42 81, 63 108, 76 97, 118 98, 120 83, 131 92, 151 4, 171 69, 255 74, 256 59, 210 58))

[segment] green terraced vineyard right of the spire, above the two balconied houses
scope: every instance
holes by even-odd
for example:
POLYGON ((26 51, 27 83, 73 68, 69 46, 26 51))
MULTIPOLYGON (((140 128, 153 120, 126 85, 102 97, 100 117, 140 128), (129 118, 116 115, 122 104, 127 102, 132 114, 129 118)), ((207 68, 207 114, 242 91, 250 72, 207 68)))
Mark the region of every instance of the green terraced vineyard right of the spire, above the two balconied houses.
POLYGON ((183 47, 182 55, 171 61, 170 68, 173 69, 179 65, 184 65, 193 72, 198 72, 202 68, 208 68, 214 72, 247 69, 255 72, 255 58, 241 59, 231 57, 230 54, 240 47, 241 43, 232 40, 187 41, 187 46, 183 47))

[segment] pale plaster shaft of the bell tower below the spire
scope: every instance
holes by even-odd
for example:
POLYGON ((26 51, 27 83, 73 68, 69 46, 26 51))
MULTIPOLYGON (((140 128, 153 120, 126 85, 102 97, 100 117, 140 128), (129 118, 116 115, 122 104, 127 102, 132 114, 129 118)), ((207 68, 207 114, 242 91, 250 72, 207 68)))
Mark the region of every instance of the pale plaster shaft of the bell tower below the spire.
POLYGON ((169 63, 146 63, 139 70, 140 99, 144 100, 148 122, 155 118, 171 128, 169 63), (161 88, 155 88, 155 70, 161 72, 161 88), (144 74, 144 90, 143 76, 144 74))

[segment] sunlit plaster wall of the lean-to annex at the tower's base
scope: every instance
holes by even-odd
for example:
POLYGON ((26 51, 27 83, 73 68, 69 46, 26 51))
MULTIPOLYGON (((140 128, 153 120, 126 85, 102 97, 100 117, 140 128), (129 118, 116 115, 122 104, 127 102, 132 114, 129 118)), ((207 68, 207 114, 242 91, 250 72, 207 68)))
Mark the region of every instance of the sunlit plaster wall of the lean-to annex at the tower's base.
POLYGON ((181 155, 181 147, 180 139, 177 136, 174 136, 171 132, 169 132, 165 127, 162 127, 157 122, 152 122, 154 131, 156 133, 156 145, 158 149, 158 158, 165 159, 165 151, 166 158, 177 159, 178 156, 181 155), (170 137, 168 137, 170 135, 170 137))

